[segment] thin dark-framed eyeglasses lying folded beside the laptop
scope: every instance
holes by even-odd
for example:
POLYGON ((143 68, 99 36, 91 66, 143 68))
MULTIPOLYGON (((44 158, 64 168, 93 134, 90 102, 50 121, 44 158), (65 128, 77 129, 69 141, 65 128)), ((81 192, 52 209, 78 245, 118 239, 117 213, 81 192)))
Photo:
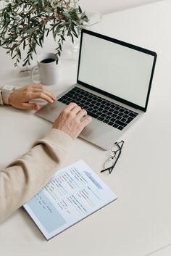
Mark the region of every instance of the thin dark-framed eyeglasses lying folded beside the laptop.
POLYGON ((124 141, 115 142, 113 144, 112 148, 110 149, 111 157, 109 157, 104 162, 104 169, 101 170, 101 173, 103 173, 106 170, 108 170, 109 173, 112 173, 112 170, 113 170, 114 166, 116 165, 117 160, 120 158, 123 144, 124 144, 124 141))

